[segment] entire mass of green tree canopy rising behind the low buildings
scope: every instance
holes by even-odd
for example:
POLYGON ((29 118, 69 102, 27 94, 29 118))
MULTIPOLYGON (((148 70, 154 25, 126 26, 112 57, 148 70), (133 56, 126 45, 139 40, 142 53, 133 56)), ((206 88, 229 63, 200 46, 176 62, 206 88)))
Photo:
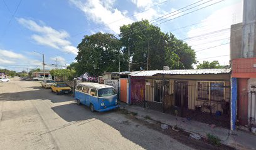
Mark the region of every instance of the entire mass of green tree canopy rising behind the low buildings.
POLYGON ((104 71, 128 71, 131 60, 131 71, 140 68, 149 70, 192 69, 196 63, 196 53, 188 44, 177 39, 171 32, 164 33, 147 20, 137 21, 120 27, 120 37, 101 33, 84 36, 78 44, 78 55, 73 63, 77 74, 88 72, 98 76, 104 71), (130 57, 128 49, 130 47, 130 57))

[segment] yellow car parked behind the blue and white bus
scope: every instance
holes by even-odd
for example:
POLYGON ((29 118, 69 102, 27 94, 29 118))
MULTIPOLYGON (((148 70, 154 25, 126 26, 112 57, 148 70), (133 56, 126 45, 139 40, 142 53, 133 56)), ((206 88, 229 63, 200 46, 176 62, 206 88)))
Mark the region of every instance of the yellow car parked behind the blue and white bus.
POLYGON ((69 94, 71 88, 66 83, 53 83, 51 85, 51 92, 58 94, 69 94))

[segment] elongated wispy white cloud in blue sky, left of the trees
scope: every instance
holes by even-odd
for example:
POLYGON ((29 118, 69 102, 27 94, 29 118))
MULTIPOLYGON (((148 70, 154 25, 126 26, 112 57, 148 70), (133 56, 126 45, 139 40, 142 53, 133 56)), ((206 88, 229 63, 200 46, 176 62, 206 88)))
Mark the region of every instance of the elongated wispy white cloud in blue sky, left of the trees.
POLYGON ((67 31, 57 31, 46 25, 40 26, 35 21, 29 19, 18 18, 17 20, 19 24, 37 33, 33 34, 31 38, 38 42, 38 44, 50 46, 60 51, 77 54, 77 48, 72 46, 72 43, 67 40, 67 38, 70 37, 67 31))

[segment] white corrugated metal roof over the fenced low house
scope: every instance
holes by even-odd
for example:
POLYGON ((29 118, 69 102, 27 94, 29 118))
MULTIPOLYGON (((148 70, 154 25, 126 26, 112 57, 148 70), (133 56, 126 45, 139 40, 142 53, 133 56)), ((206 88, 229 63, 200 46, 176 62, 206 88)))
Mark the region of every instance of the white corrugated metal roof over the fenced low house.
POLYGON ((184 69, 184 70, 154 70, 140 71, 131 76, 154 76, 155 74, 228 74, 231 69, 184 69))

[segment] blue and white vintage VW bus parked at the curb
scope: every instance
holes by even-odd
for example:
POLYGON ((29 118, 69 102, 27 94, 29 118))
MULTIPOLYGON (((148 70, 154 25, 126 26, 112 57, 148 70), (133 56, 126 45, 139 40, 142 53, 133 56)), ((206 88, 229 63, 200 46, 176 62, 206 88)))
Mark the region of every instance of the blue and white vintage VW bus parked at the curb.
POLYGON ((99 83, 78 83, 75 101, 90 107, 90 111, 109 111, 118 108, 117 93, 112 86, 99 83))

